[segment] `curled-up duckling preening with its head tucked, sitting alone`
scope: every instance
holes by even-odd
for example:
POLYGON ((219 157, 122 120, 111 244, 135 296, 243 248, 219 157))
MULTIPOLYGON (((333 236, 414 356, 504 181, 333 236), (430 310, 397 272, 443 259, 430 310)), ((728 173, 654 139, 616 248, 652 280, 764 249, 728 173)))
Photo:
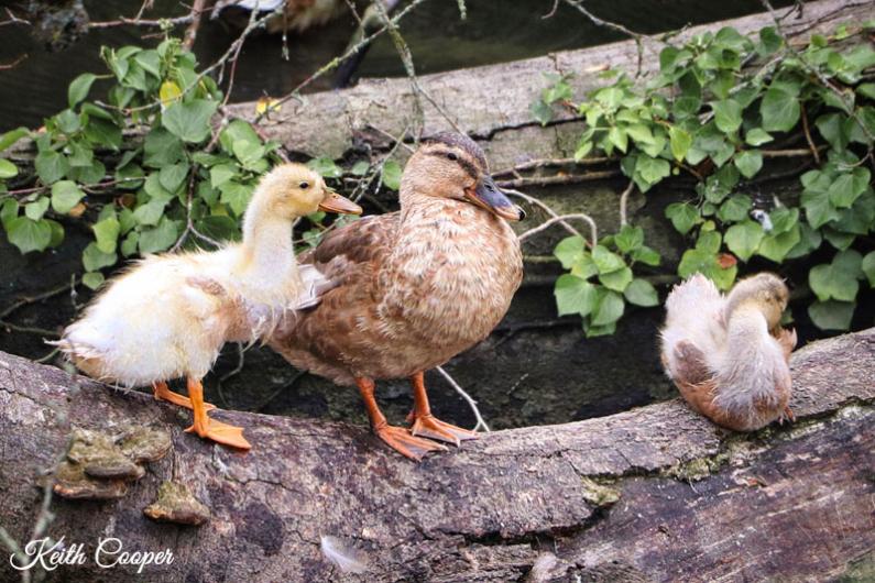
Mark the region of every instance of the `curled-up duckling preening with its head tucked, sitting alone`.
POLYGON ((737 431, 792 420, 796 331, 780 327, 787 299, 787 286, 770 273, 742 279, 726 296, 701 274, 671 290, 663 365, 690 407, 737 431))

